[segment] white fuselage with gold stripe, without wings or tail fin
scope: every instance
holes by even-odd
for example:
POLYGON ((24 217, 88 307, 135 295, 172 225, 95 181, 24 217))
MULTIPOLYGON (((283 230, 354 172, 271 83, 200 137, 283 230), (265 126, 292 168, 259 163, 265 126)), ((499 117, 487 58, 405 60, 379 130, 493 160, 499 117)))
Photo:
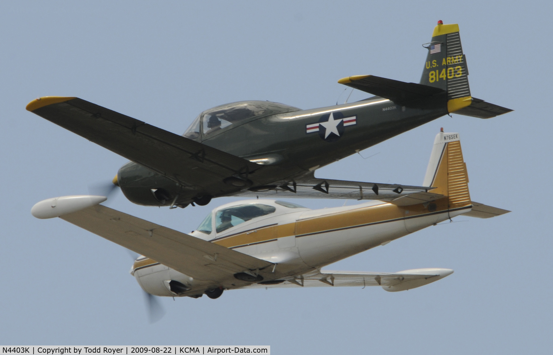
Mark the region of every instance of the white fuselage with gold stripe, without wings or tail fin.
MULTIPOLYGON (((447 199, 442 199, 447 200, 447 199)), ((212 220, 218 211, 240 205, 266 205, 275 207, 275 212, 254 218, 237 226, 211 234, 199 231, 192 236, 212 241, 255 258, 275 263, 275 269, 288 277, 287 281, 299 280, 319 274, 321 268, 351 255, 363 252, 407 234, 446 221, 471 211, 471 203, 453 209, 447 201, 424 205, 396 206, 382 201, 370 201, 354 206, 323 208, 289 208, 274 200, 246 200, 228 203, 213 210, 212 220), (437 205, 445 203, 445 209, 437 205), (436 208, 436 211, 429 211, 436 208)), ((182 296, 193 295, 195 289, 205 289, 209 281, 199 281, 165 267, 148 258, 138 258, 131 273, 142 288, 153 295, 176 296, 164 284, 164 280, 176 280, 191 287, 182 296)), ((444 275, 446 276, 446 275, 444 275)), ((270 287, 269 283, 252 284, 270 287)), ((267 282, 267 281, 265 281, 267 282)), ((362 284, 361 284, 362 286, 362 284)), ((232 284, 231 284, 232 288, 232 284)), ((242 288, 238 287, 237 288, 242 288)))

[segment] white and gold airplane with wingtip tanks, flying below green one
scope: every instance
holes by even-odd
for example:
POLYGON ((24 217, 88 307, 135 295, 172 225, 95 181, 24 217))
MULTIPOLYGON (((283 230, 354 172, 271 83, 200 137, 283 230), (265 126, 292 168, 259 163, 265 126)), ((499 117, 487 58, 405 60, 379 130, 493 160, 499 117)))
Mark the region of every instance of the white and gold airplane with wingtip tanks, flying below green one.
POLYGON ((432 192, 321 210, 278 200, 236 201, 215 208, 191 234, 99 205, 103 196, 56 197, 36 203, 32 213, 60 217, 139 253, 131 274, 151 295, 215 299, 223 290, 301 286, 402 291, 453 270, 321 268, 458 215, 488 218, 509 212, 471 200, 457 133, 436 135, 423 186, 432 192))

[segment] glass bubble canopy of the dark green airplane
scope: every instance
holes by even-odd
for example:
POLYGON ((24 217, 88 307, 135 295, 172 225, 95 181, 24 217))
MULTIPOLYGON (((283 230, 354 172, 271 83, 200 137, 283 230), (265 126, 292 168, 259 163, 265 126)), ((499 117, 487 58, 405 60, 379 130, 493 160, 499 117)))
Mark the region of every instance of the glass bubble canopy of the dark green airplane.
POLYGON ((238 126, 250 119, 272 116, 273 114, 300 111, 300 108, 270 101, 239 101, 210 108, 196 117, 184 137, 197 139, 209 137, 229 126, 238 126))

